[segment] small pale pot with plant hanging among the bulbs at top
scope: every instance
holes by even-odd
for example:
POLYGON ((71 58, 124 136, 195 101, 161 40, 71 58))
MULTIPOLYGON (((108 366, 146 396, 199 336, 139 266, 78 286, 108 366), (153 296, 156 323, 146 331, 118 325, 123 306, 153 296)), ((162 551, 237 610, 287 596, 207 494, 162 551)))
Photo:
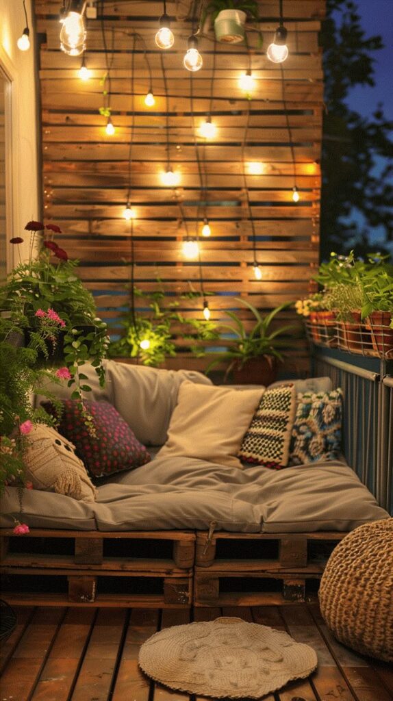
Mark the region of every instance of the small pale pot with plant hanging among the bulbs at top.
POLYGON ((212 0, 205 8, 202 27, 208 15, 214 22, 217 41, 240 43, 245 38, 244 25, 247 15, 258 22, 258 3, 256 0, 212 0))

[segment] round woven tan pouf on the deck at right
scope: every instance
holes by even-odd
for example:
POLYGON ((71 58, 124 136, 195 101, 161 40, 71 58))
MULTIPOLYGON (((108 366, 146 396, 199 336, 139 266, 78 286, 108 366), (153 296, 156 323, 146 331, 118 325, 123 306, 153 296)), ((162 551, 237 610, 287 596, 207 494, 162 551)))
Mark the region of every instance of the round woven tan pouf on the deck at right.
POLYGON ((322 575, 319 604, 340 642, 393 662, 393 519, 359 526, 341 540, 322 575))

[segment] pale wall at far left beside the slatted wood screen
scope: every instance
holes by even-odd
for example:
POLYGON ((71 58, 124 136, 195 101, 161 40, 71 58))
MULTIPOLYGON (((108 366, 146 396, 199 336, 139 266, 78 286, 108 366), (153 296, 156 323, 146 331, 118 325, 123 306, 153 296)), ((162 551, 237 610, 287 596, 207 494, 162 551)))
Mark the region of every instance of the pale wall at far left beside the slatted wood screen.
MULTIPOLYGON (((23 231, 30 219, 39 219, 39 188, 36 130, 36 89, 34 74, 34 31, 32 1, 26 0, 31 46, 20 51, 16 41, 25 28, 22 0, 0 0, 0 64, 12 81, 11 86, 11 163, 12 201, 7 198, 8 238, 25 239, 22 257, 29 254, 30 234, 23 231)), ((8 120, 9 123, 9 120, 8 120)), ((18 262, 16 246, 9 246, 8 269, 18 262), (14 260, 13 258, 14 257, 14 260)))

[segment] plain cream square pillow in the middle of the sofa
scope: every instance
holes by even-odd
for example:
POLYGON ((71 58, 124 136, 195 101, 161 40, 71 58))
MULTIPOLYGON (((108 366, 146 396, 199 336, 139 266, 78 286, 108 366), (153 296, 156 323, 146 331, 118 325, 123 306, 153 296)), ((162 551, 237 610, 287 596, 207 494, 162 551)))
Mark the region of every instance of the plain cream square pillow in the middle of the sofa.
POLYGON ((170 420, 168 437, 158 455, 199 458, 242 468, 237 453, 264 388, 239 392, 230 387, 184 381, 170 420))

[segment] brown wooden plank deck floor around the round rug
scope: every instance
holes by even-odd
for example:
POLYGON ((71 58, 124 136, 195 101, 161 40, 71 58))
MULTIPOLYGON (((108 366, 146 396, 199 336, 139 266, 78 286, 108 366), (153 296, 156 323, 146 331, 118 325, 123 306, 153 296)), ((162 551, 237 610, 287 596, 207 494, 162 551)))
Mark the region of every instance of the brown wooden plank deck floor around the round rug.
POLYGON ((1 653, 0 701, 198 701, 151 683, 139 671, 140 644, 170 625, 236 615, 287 630, 318 654, 309 679, 266 701, 392 701, 393 672, 340 646, 317 604, 186 610, 20 607, 1 653))

